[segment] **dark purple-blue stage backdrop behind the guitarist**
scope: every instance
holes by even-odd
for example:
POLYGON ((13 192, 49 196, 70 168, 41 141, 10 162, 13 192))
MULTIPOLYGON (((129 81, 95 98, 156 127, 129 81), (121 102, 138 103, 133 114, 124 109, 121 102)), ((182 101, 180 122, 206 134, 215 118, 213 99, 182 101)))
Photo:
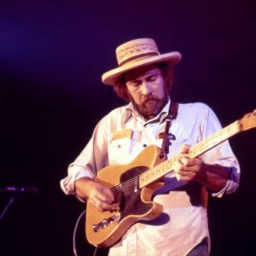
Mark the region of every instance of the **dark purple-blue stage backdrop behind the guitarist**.
MULTIPOLYGON (((9 208, 0 223, 0 254, 73 254, 73 227, 84 205, 65 196, 59 181, 96 122, 123 103, 101 82, 116 66, 117 45, 149 37, 162 53, 180 51, 174 96, 207 103, 223 125, 253 111, 255 7, 248 0, 2 1, 0 185, 37 186, 39 193, 9 208)), ((209 201, 212 255, 254 249, 255 134, 230 139, 241 188, 209 201)), ((0 195, 1 210, 8 200, 0 195)), ((79 255, 89 255, 83 225, 79 255)))

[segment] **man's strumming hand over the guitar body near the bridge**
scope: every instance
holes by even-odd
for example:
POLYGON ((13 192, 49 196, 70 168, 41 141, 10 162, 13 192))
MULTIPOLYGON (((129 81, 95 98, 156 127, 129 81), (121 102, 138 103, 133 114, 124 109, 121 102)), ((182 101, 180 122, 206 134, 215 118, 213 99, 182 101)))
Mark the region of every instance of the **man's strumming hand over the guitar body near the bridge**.
POLYGON ((90 203, 100 211, 113 211, 117 208, 113 192, 90 177, 81 177, 75 182, 76 195, 90 203))

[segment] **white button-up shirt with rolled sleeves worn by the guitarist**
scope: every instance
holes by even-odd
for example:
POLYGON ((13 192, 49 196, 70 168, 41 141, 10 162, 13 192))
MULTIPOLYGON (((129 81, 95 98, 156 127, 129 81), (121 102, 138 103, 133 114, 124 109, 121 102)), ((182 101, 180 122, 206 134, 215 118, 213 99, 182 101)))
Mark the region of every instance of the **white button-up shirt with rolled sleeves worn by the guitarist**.
MULTIPOLYGON (((96 177, 96 172, 109 164, 126 164, 151 144, 161 146, 160 132, 165 130, 168 102, 154 119, 144 121, 131 103, 114 109, 96 126, 90 142, 68 167, 61 189, 74 194, 74 181, 79 177, 96 177)), ((183 144, 194 145, 221 129, 212 109, 203 103, 179 104, 177 119, 170 132, 175 136, 168 159, 179 153, 183 144)), ((230 169, 224 189, 213 196, 234 192, 239 185, 240 168, 228 141, 201 155, 207 164, 230 169)), ((159 218, 133 224, 122 239, 110 248, 110 255, 186 255, 205 237, 209 238, 205 190, 199 183, 178 182, 166 175, 165 186, 155 191, 154 201, 164 207, 159 218)))

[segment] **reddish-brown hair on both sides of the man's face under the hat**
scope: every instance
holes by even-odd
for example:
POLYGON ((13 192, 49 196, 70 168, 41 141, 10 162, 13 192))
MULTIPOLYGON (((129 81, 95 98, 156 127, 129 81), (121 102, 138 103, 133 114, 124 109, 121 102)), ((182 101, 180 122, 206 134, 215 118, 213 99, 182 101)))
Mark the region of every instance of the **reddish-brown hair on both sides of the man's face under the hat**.
MULTIPOLYGON (((170 67, 167 63, 154 64, 154 67, 160 68, 160 72, 166 81, 166 91, 170 93, 175 80, 173 68, 170 67)), ((115 84, 113 84, 113 90, 120 98, 125 100, 125 102, 130 102, 129 93, 125 83, 125 76, 121 75, 119 79, 115 81, 115 84)))

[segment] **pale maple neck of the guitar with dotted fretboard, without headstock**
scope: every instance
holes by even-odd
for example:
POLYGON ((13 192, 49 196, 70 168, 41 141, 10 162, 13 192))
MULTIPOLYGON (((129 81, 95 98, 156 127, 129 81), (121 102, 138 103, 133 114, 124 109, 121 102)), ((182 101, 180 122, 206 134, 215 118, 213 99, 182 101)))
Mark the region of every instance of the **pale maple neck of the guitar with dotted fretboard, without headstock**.
POLYGON ((188 154, 177 154, 170 160, 166 160, 159 165, 150 168, 148 171, 143 172, 139 178, 140 188, 142 189, 148 184, 153 183, 161 177, 164 177, 167 173, 172 172, 174 162, 179 160, 183 155, 186 155, 189 158, 195 158, 205 153, 207 150, 217 146, 219 143, 223 143, 225 140, 234 136, 239 131, 239 122, 236 120, 234 123, 224 127, 222 130, 216 131, 212 134, 212 136, 207 137, 200 143, 196 143, 194 146, 190 147, 188 154))

